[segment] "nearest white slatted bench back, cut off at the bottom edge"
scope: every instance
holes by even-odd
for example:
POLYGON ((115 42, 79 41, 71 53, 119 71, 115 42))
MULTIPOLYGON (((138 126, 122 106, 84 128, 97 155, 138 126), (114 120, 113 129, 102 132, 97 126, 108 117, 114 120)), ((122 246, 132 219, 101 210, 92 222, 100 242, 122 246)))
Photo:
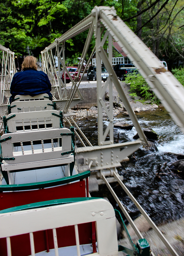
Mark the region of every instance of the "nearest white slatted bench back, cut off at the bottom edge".
MULTIPOLYGON (((31 255, 35 255, 34 233, 39 230, 53 230, 54 249, 47 252, 38 252, 36 255, 67 255, 70 256, 70 247, 58 248, 59 238, 57 237, 57 228, 66 226, 75 226, 76 254, 82 255, 83 248, 79 241, 78 225, 82 223, 95 222, 97 235, 97 253, 87 253, 89 255, 99 256, 117 256, 118 243, 116 233, 115 212, 112 205, 104 199, 94 199, 89 201, 63 204, 58 206, 49 206, 44 208, 23 210, 11 213, 0 214, 0 238, 6 238, 7 255, 11 256, 11 250, 16 246, 11 240, 12 236, 29 233, 31 255), (68 249, 68 253, 64 253, 68 249)), ((63 234, 65 236, 65 234, 63 234)), ((73 234, 71 234, 73 236, 73 234)), ((21 238, 20 238, 21 239, 21 238)), ((70 236, 68 236, 70 239, 70 236)), ((0 252, 1 252, 0 248, 0 252)), ((30 249, 29 249, 30 250, 30 249)))

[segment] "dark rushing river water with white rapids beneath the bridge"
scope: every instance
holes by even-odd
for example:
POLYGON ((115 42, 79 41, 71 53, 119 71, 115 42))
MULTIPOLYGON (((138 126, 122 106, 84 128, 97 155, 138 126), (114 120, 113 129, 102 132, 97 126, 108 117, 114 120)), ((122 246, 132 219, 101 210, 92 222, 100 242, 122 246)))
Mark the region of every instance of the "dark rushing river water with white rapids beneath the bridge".
MULTIPOLYGON (((130 160, 122 163, 118 173, 123 175, 129 191, 157 224, 176 220, 184 216, 184 180, 169 166, 177 161, 175 154, 184 154, 184 134, 163 108, 162 111, 141 112, 136 116, 143 129, 152 127, 158 133, 158 140, 154 142, 158 151, 141 147, 134 157, 129 156, 130 160), (157 178, 159 169, 160 178, 157 178)), ((122 114, 114 118, 114 122, 122 121, 132 123, 128 116, 122 114)), ((91 143, 97 145, 96 120, 81 120, 78 123, 91 143)), ((104 121, 104 125, 107 124, 108 122, 104 121)), ((114 128, 114 139, 118 133, 119 142, 132 141, 136 130, 134 127, 130 131, 114 128)), ((111 185, 130 216, 138 217, 139 210, 119 184, 111 185)), ((106 185, 101 185, 99 191, 91 193, 91 196, 108 197, 111 204, 118 209, 106 185)))

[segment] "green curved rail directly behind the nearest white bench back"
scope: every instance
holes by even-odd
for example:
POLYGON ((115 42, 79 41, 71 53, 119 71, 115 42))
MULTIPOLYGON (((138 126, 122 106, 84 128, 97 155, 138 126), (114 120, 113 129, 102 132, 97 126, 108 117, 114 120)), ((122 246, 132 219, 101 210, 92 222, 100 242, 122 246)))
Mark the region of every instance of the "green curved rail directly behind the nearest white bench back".
POLYGON ((49 201, 43 201, 38 203, 32 203, 28 205, 11 207, 8 209, 1 210, 0 213, 17 212, 17 211, 42 208, 47 206, 55 206, 55 205, 70 204, 70 203, 81 202, 81 201, 89 201, 93 199, 99 199, 99 197, 80 197, 80 198, 64 198, 64 199, 57 199, 57 200, 49 200, 49 201))

